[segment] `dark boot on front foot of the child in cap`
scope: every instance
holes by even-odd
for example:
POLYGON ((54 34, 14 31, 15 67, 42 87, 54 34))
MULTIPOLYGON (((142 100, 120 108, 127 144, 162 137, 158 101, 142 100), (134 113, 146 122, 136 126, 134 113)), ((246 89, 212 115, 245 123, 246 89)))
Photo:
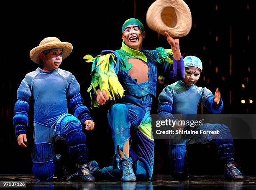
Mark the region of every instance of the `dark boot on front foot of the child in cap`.
POLYGON ((233 163, 225 164, 224 167, 225 180, 243 180, 243 175, 233 163))

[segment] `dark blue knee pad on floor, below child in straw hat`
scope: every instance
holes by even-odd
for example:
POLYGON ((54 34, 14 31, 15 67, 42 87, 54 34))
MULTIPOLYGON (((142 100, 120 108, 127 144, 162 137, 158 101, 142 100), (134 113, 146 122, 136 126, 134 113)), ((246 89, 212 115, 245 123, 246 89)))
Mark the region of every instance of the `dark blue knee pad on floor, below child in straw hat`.
POLYGON ((38 181, 47 181, 54 177, 55 165, 53 161, 45 163, 34 163, 32 172, 38 181))

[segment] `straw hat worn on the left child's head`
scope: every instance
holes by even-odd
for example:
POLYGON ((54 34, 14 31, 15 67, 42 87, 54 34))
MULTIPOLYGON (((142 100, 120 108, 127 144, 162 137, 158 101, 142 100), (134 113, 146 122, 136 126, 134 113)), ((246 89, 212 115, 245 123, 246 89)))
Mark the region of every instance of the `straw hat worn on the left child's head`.
POLYGON ((40 57, 39 54, 42 51, 53 49, 53 48, 62 48, 62 59, 66 58, 69 56, 69 54, 73 50, 73 46, 71 43, 68 42, 61 42, 59 38, 56 37, 47 37, 44 38, 39 44, 39 46, 31 49, 29 56, 32 59, 33 62, 39 63, 40 62, 40 57))

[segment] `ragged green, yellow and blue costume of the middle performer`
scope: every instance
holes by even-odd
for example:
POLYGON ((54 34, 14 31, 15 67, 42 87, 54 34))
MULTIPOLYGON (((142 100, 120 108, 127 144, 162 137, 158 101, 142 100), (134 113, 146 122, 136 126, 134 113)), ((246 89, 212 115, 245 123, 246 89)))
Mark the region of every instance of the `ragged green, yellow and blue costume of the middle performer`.
POLYGON ((170 49, 159 47, 153 51, 142 49, 140 52, 129 48, 125 43, 120 50, 102 51, 96 58, 87 55, 84 59, 93 62, 92 83, 88 89, 88 92, 91 92, 92 106, 98 106, 93 96, 93 91, 98 88, 105 90, 110 99, 115 100, 108 111, 115 156, 113 166, 105 168, 108 170, 106 173, 110 173, 113 177, 113 169, 119 168, 118 149, 123 152, 123 146, 131 136, 132 141, 136 142, 130 150, 130 159, 135 165, 136 177, 151 179, 154 139, 150 110, 152 99, 156 96, 157 77, 164 75, 174 80, 184 79, 183 59, 175 61, 170 49), (148 81, 138 84, 136 79, 131 78, 128 74, 132 67, 132 64, 127 62, 129 58, 141 59, 148 65, 148 81), (119 99, 115 99, 115 96, 119 99))

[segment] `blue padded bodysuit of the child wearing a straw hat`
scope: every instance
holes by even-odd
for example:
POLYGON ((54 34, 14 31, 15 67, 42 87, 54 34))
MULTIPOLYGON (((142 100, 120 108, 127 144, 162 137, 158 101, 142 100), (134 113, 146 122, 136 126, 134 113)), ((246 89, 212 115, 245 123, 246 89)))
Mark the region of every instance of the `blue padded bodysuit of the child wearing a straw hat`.
POLYGON ((80 86, 72 73, 60 68, 53 71, 37 68, 25 76, 18 88, 13 124, 16 137, 26 134, 29 104, 32 102, 34 145, 31 155, 37 180, 49 180, 54 176, 56 140, 66 139, 69 155, 75 163, 87 163, 86 137, 80 121, 84 124, 92 118, 89 109, 82 104, 79 91, 80 86), (75 117, 68 114, 68 106, 75 117))

